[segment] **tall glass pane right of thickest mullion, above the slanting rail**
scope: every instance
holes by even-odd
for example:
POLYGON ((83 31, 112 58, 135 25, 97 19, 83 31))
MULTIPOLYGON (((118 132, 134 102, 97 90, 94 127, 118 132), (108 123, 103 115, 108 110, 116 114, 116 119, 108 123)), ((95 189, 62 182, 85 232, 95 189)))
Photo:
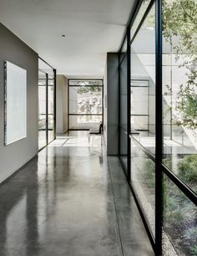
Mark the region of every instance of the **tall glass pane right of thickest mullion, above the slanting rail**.
POLYGON ((164 164, 194 192, 197 192, 196 12, 193 0, 163 2, 164 164))

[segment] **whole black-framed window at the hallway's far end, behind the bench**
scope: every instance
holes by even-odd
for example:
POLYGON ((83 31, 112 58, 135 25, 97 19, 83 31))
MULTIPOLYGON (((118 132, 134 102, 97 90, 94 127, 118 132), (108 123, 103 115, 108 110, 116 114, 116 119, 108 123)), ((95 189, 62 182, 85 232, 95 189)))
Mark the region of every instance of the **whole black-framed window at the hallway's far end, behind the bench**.
POLYGON ((103 79, 68 80, 68 130, 89 130, 103 122, 103 79))

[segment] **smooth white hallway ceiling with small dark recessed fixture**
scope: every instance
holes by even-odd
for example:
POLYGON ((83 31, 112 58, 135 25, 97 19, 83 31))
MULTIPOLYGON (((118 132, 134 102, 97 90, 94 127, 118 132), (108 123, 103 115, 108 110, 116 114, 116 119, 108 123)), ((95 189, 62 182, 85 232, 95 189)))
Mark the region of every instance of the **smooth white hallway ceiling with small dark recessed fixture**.
POLYGON ((100 78, 106 53, 119 49, 134 2, 0 0, 0 22, 58 74, 100 78))

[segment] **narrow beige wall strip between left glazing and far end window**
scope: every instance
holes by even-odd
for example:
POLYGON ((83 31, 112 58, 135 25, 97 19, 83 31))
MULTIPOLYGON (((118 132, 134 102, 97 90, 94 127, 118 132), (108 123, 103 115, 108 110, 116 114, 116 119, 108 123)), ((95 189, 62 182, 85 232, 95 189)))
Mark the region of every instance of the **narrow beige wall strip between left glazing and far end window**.
POLYGON ((68 79, 57 75, 56 130, 58 134, 68 131, 68 79))

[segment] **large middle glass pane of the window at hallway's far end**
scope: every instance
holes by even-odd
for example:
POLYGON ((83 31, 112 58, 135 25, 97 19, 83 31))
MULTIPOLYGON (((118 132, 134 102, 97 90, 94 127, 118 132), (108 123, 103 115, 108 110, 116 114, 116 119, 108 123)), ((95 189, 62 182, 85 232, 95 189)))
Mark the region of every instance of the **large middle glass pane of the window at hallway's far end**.
POLYGON ((101 86, 70 86, 69 113, 70 114, 102 114, 101 86))

